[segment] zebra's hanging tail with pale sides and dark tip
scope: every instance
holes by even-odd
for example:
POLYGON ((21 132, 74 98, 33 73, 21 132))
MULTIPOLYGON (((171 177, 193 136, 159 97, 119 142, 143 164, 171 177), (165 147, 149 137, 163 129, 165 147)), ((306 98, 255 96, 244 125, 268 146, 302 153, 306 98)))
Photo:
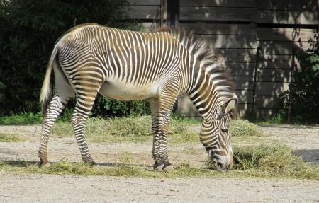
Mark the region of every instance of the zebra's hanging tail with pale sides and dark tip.
POLYGON ((51 99, 51 84, 50 84, 50 78, 51 78, 51 72, 52 72, 52 66, 53 62, 55 60, 55 57, 57 55, 57 45, 55 45, 55 48, 52 51, 49 64, 47 65, 47 71, 45 73, 45 79, 43 81, 43 86, 41 88, 40 92, 40 104, 41 104, 41 110, 43 117, 45 113, 47 112, 47 105, 50 103, 51 99))

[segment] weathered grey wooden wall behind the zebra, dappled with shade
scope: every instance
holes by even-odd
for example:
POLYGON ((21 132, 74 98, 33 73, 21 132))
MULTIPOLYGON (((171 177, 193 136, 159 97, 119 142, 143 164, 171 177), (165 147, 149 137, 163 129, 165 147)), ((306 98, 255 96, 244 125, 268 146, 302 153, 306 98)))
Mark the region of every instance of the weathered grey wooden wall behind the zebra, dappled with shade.
MULTIPOLYGON (((168 9, 167 1, 130 1, 130 5, 127 5, 128 18, 149 23, 145 25, 152 30, 155 22, 158 26, 163 20, 161 17, 165 18, 162 14, 164 9, 168 9)), ((216 48, 217 61, 233 71, 240 100, 240 115, 250 115, 255 66, 257 81, 254 112, 257 117, 278 112, 279 95, 287 90, 291 81, 293 50, 296 53, 303 52, 317 45, 318 1, 174 2, 178 4, 175 11, 178 18, 176 26, 194 30, 196 35, 209 40, 216 48), (260 47, 258 57, 257 47, 260 47)), ((298 62, 296 65, 298 67, 298 62)), ((185 116, 197 115, 186 97, 179 98, 177 112, 185 116)))

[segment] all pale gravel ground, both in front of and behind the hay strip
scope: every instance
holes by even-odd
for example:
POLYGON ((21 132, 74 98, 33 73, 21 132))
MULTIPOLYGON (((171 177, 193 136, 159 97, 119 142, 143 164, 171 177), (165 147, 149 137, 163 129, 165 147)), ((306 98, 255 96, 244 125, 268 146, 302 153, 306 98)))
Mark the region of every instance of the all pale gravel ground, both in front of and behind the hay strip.
MULTIPOLYGON (((318 127, 261 127, 270 134, 259 142, 281 142, 319 163, 318 127)), ((0 132, 21 134, 28 141, 0 142, 0 160, 38 161, 40 126, 0 126, 0 132)), ((234 146, 250 146, 238 141, 234 146)), ((72 137, 52 137, 49 159, 80 161, 72 137)), ((98 163, 121 162, 121 153, 130 152, 135 162, 152 165, 151 143, 90 144, 98 163)), ((198 144, 170 144, 174 164, 203 166, 206 152, 198 144)), ((30 175, 0 172, 0 202, 319 202, 315 180, 264 178, 112 178, 106 176, 30 175)))

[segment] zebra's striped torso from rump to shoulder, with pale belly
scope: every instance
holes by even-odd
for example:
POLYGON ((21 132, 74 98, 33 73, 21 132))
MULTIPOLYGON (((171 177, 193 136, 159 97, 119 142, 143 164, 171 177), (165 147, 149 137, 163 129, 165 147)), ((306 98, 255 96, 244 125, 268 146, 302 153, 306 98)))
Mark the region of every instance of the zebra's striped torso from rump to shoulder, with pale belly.
POLYGON ((70 30, 61 41, 59 59, 67 74, 72 79, 101 80, 100 93, 118 100, 149 98, 167 81, 178 83, 181 58, 189 57, 168 32, 83 25, 70 30))

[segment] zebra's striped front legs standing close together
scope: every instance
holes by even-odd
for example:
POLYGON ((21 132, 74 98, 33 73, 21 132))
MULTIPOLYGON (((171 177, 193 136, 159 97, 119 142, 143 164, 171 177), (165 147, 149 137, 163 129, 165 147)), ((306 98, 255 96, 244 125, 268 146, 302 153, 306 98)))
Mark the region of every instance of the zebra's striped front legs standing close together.
POLYGON ((155 167, 162 162, 163 170, 167 172, 174 170, 167 155, 167 131, 169 117, 175 100, 177 99, 177 96, 175 95, 174 91, 165 91, 159 96, 157 101, 157 114, 153 119, 155 122, 155 130, 153 129, 154 139, 152 157, 155 161, 155 167))

